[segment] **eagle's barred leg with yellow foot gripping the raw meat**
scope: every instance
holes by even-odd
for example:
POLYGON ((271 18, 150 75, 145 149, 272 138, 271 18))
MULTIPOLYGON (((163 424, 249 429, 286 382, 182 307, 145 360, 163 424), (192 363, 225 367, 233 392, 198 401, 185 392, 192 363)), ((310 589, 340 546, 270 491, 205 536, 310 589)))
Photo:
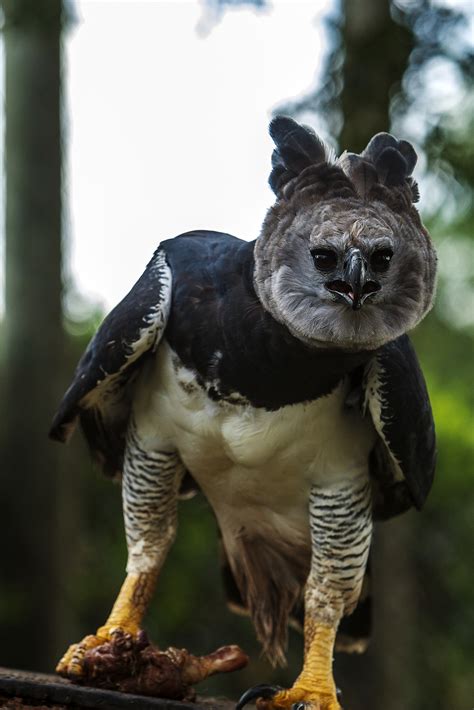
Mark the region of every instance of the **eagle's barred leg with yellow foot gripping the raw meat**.
POLYGON ((174 540, 177 498, 184 468, 176 453, 148 451, 136 426, 129 428, 122 479, 128 547, 127 577, 110 616, 95 635, 66 651, 56 667, 80 679, 86 652, 110 641, 118 631, 137 636, 153 595, 159 571, 174 540))

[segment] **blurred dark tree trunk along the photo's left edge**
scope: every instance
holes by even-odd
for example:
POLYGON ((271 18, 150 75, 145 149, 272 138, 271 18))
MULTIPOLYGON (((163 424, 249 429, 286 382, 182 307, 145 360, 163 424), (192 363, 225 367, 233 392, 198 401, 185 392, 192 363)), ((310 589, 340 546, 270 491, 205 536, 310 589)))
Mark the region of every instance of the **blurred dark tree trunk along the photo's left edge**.
POLYGON ((61 0, 2 0, 6 317, 2 397, 0 664, 51 668, 57 653, 61 323, 61 0))

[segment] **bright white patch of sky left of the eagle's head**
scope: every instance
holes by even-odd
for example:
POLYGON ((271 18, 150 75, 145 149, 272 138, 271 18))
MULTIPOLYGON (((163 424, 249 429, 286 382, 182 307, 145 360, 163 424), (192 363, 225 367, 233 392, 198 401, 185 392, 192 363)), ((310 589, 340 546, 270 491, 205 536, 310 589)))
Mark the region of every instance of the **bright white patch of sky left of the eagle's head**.
POLYGON ((229 10, 203 35, 195 0, 77 2, 66 268, 83 297, 110 309, 181 232, 258 235, 272 203, 269 117, 313 85, 332 4, 229 10))

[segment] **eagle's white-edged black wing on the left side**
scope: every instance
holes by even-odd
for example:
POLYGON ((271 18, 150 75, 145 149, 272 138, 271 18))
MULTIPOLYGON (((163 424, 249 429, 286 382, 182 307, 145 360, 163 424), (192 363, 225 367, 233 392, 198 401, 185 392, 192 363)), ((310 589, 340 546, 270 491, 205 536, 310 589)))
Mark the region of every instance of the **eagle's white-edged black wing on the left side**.
POLYGON ((121 470, 133 381, 163 335, 171 280, 165 253, 158 248, 92 338, 53 420, 50 437, 67 441, 79 419, 92 453, 109 475, 121 470))

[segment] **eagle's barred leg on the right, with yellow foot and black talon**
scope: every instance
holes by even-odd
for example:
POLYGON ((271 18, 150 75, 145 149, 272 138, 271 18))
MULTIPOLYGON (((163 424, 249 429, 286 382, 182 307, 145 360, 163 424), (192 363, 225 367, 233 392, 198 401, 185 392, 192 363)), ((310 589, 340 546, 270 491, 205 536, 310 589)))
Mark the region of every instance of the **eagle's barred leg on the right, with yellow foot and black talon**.
POLYGON ((366 475, 310 495, 311 570, 305 589, 303 669, 288 690, 257 686, 238 708, 258 698, 259 710, 341 710, 332 673, 341 618, 357 605, 372 533, 371 487, 366 475))

